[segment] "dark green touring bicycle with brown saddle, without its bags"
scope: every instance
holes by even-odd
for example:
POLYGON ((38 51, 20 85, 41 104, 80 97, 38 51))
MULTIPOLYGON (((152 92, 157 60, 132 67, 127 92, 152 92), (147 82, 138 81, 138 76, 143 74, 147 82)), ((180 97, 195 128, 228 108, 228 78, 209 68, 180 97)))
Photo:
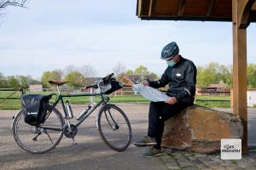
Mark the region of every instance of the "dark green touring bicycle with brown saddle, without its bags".
MULTIPOLYGON (((109 97, 106 95, 106 88, 109 88, 109 82, 113 73, 108 77, 102 78, 101 81, 88 86, 90 89, 100 89, 99 93, 90 94, 67 94, 62 95, 60 86, 66 82, 52 82, 57 88, 57 94, 50 94, 52 97, 56 95, 55 102, 49 104, 47 107, 47 115, 45 116, 44 123, 37 126, 31 126, 24 122, 23 111, 19 111, 15 116, 12 124, 13 135, 15 142, 23 149, 32 153, 44 153, 55 148, 60 143, 63 134, 67 138, 73 139, 78 133, 79 125, 96 110, 97 107, 102 105, 102 108, 96 116, 96 127, 100 136, 109 148, 116 151, 125 150, 131 143, 131 124, 125 116, 125 112, 119 109, 118 106, 109 103, 109 97), (76 118, 76 124, 71 124, 73 117, 72 107, 68 101, 66 105, 64 98, 80 97, 80 96, 100 96, 101 100, 96 105, 88 105, 84 111, 76 118), (55 107, 61 101, 61 107, 64 111, 65 117, 61 115, 55 107)), ((114 90, 113 90, 114 91, 114 90)))

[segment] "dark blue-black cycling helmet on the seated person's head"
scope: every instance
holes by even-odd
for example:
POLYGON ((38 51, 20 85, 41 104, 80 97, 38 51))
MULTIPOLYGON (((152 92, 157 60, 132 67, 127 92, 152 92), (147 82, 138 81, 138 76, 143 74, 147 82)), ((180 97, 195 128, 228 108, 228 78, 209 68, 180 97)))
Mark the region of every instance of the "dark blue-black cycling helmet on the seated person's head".
POLYGON ((161 59, 170 59, 178 53, 179 53, 179 49, 177 47, 177 43, 171 42, 162 49, 161 59))

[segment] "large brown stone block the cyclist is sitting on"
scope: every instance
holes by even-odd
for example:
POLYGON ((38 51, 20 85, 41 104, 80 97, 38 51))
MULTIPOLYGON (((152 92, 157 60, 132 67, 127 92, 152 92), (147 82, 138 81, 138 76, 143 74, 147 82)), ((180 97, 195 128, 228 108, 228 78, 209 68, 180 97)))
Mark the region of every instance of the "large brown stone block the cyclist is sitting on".
POLYGON ((241 139, 242 133, 239 116, 194 105, 165 122, 162 145, 208 154, 220 150, 221 139, 241 139))

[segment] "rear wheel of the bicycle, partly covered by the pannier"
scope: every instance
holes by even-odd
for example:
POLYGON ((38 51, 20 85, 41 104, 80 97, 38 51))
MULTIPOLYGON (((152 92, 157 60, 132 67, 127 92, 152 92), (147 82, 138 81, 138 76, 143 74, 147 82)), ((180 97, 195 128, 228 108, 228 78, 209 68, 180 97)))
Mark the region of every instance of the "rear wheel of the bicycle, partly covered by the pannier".
POLYGON ((47 112, 49 113, 45 122, 38 127, 24 122, 22 110, 15 116, 12 129, 15 142, 20 148, 34 154, 41 154, 54 149, 60 143, 63 136, 64 118, 60 111, 52 108, 52 105, 49 105, 47 112), (52 111, 49 112, 49 110, 52 111), (57 131, 47 127, 62 130, 57 131))

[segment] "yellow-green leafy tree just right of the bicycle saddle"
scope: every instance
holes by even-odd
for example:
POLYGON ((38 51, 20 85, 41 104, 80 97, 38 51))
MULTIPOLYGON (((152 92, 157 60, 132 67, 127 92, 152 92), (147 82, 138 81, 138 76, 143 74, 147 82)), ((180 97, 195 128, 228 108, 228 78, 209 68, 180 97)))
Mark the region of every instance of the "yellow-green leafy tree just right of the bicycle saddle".
POLYGON ((79 71, 73 71, 69 73, 65 80, 69 83, 69 85, 73 88, 82 88, 83 87, 83 75, 79 71))

